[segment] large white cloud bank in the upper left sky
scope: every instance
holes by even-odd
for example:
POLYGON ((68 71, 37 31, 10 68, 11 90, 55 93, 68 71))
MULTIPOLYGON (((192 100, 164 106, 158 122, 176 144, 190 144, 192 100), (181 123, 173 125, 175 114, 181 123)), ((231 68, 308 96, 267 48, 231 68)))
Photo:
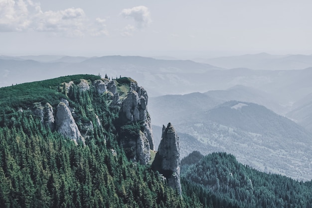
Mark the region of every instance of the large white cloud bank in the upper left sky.
POLYGON ((61 36, 108 35, 105 19, 90 22, 82 8, 42 11, 31 0, 0 0, 0 32, 51 32, 61 36))

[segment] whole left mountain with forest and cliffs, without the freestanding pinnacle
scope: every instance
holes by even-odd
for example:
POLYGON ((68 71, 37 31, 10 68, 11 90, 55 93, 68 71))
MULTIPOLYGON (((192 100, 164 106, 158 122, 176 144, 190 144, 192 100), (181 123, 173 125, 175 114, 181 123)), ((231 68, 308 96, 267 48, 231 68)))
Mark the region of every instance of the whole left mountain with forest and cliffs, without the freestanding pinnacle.
POLYGON ((0 207, 201 207, 150 168, 147 98, 94 75, 0 88, 0 207))

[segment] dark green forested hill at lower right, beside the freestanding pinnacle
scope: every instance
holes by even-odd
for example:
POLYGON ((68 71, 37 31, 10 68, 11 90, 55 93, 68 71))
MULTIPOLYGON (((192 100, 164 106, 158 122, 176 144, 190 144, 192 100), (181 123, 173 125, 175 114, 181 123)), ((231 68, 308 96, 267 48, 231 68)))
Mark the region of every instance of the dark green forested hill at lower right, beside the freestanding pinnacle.
MULTIPOLYGON (((185 160, 189 160, 189 157, 194 157, 194 153, 185 160)), ((209 195, 213 196, 212 199, 224 200, 223 203, 210 201, 216 207, 312 206, 311 181, 303 183, 285 176, 259 172, 239 163, 230 154, 212 153, 198 162, 194 160, 186 169, 182 165, 181 170, 183 183, 198 187, 194 190, 201 202, 205 202, 205 196, 209 195)))

